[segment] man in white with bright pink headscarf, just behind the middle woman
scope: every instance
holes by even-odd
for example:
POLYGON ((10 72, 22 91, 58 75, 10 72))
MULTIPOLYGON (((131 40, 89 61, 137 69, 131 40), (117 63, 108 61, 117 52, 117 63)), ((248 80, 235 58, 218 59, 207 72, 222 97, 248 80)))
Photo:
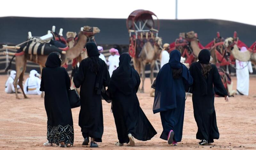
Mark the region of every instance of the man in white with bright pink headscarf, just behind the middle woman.
POLYGON ((118 53, 118 50, 115 48, 111 48, 109 50, 109 53, 111 53, 111 55, 108 57, 108 71, 109 71, 109 75, 110 77, 112 76, 112 73, 114 70, 116 70, 116 68, 119 66, 119 55, 117 55, 116 53, 118 53))

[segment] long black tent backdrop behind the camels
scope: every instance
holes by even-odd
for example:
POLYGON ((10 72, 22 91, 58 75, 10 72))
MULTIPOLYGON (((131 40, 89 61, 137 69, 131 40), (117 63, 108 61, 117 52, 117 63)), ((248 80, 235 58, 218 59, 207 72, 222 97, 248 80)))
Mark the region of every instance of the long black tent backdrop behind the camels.
MULTIPOLYGON (((239 39, 247 46, 251 46, 256 41, 256 26, 253 25, 215 19, 159 21, 158 35, 163 38, 163 43, 172 43, 179 37, 180 32, 188 31, 197 32, 198 38, 204 46, 216 37, 217 31, 224 38, 232 37, 234 31, 237 31, 239 39)), ((43 36, 47 34, 47 30, 52 29, 52 25, 56 26, 57 32, 63 28, 64 37, 68 31, 78 33, 84 25, 97 26, 100 28, 100 33, 95 35, 98 45, 117 44, 126 46, 127 50, 129 44, 126 19, 2 17, 0 22, 0 43, 2 44, 19 44, 27 39, 29 31, 32 32, 32 36, 43 36)), ((1 74, 6 64, 5 57, 1 56, 0 62, 1 74)), ((27 72, 33 67, 35 64, 28 67, 27 72)), ((14 69, 14 65, 12 69, 14 69)))

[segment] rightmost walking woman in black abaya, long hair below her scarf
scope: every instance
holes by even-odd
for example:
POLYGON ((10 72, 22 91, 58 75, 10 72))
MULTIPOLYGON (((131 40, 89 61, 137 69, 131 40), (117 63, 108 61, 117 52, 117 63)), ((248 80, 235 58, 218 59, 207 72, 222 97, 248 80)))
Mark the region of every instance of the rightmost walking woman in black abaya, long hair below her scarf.
POLYGON ((218 69, 210 64, 210 58, 210 51, 203 49, 198 55, 199 61, 194 62, 189 68, 194 79, 192 101, 198 127, 196 139, 201 140, 200 145, 213 143, 213 139, 220 137, 214 109, 214 93, 225 97, 228 101, 228 93, 221 81, 218 69))

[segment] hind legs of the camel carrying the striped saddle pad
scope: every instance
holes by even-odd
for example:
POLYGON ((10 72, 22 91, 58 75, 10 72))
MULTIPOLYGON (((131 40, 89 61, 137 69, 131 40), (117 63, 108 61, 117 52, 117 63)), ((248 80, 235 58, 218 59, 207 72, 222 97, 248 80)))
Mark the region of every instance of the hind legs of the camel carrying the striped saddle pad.
MULTIPOLYGON (((18 89, 17 89, 18 79, 20 78, 20 75, 22 74, 22 72, 24 70, 24 64, 25 64, 25 55, 16 56, 16 59, 15 59, 16 76, 15 76, 14 81, 13 81, 13 86, 15 88, 15 94, 16 94, 17 99, 20 99, 20 97, 18 96, 18 89)), ((23 75, 22 75, 21 80, 19 80, 19 83, 20 82, 22 83, 22 81, 23 81, 23 75)), ((23 85, 22 85, 22 92, 24 94, 23 85)))

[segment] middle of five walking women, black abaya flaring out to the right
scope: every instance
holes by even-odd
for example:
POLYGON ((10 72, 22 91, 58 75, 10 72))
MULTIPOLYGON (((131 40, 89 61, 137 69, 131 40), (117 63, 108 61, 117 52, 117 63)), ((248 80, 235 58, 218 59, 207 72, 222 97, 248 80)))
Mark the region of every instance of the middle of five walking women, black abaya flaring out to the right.
POLYGON ((140 108, 136 95, 140 76, 130 65, 130 55, 124 53, 119 60, 119 67, 113 72, 108 86, 119 140, 116 145, 130 142, 134 146, 133 137, 146 141, 156 135, 156 130, 140 108))

